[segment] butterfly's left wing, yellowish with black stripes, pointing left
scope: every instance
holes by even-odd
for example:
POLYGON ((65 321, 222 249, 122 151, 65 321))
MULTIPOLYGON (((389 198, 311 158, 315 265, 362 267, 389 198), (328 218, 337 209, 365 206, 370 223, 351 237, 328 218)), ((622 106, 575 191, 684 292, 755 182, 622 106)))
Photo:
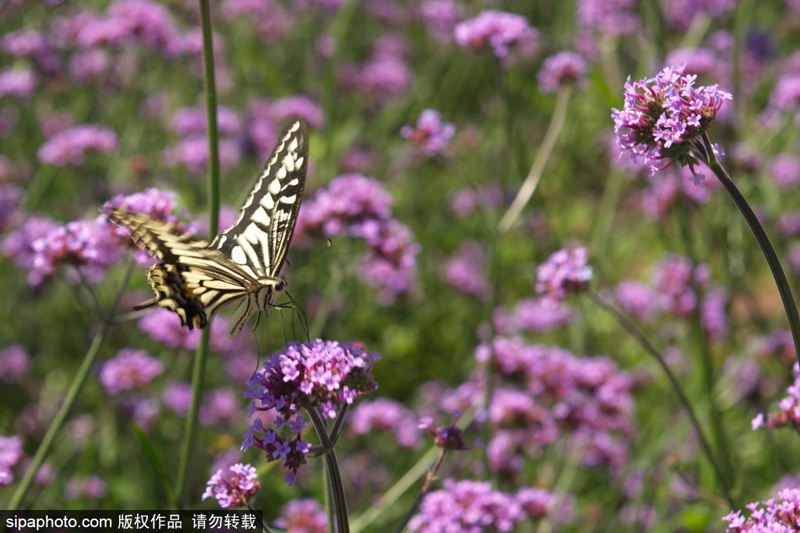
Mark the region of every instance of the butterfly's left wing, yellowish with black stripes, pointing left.
POLYGON ((189 329, 205 327, 218 308, 242 298, 245 303, 234 325, 245 322, 254 312, 258 281, 206 241, 184 233, 175 224, 122 209, 109 210, 106 215, 127 229, 134 243, 161 261, 147 271, 155 297, 135 309, 155 305, 169 309, 189 329), (245 313, 247 316, 241 318, 245 313))

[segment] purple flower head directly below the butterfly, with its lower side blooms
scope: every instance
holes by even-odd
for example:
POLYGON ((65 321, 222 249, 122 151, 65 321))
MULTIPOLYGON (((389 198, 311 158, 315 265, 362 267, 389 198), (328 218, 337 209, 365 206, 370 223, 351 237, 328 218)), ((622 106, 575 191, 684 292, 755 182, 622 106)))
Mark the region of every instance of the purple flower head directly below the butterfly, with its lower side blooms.
POLYGON ((301 410, 319 410, 325 418, 336 418, 358 396, 377 388, 371 375, 375 358, 356 343, 321 339, 292 343, 272 354, 250 378, 245 397, 252 399, 251 414, 275 410, 280 416, 275 429, 265 428, 261 418, 256 418, 242 448, 263 450, 268 461, 281 459, 290 471, 286 480, 293 484, 310 449, 302 440, 306 422, 301 410), (281 437, 276 431, 284 427, 291 437, 281 437))

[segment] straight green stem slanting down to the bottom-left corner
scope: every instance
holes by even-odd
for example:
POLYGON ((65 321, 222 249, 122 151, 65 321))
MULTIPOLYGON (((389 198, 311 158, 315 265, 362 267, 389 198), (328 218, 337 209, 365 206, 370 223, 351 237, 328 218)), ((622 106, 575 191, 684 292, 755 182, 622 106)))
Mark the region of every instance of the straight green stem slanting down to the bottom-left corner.
POLYGON ((39 468, 42 466, 44 460, 50 453, 50 449, 53 446, 53 442, 55 442, 56 436, 61 433, 61 429, 64 427, 64 422, 67 420, 72 407, 75 405, 78 395, 80 395, 81 391, 83 390, 86 377, 94 367, 94 363, 97 360, 97 355, 100 353, 100 347, 106 340, 109 327, 114 321, 114 315, 119 307, 122 294, 125 292, 125 287, 128 285, 128 280, 133 273, 133 268, 134 262, 128 261, 125 268, 125 273, 120 280, 120 285, 117 289, 117 295, 114 299, 114 302, 111 304, 108 313, 100 323, 100 328, 97 330, 97 333, 95 333, 94 338, 92 339, 92 344, 89 346, 86 355, 83 357, 83 362, 78 369, 78 374, 75 376, 75 379, 72 380, 72 386, 67 393, 67 397, 64 399, 64 403, 61 404, 61 408, 58 410, 56 416, 53 418, 53 421, 50 423, 50 427, 47 428, 47 433, 42 439, 41 444, 39 444, 39 448, 36 450, 36 454, 33 456, 31 464, 28 466, 28 469, 25 471, 25 475, 22 477, 17 489, 11 496, 11 501, 9 501, 8 505, 6 506, 8 511, 15 511, 19 508, 20 504, 22 504, 22 501, 25 499, 31 484, 33 483, 36 472, 39 471, 39 468))

